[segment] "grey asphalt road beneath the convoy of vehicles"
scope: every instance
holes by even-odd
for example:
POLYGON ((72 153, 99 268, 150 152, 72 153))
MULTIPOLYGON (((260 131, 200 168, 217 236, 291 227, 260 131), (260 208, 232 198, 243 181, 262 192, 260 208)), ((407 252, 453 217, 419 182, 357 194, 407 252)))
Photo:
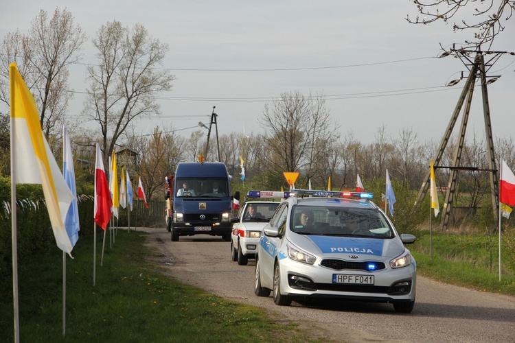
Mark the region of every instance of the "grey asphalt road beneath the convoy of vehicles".
MULTIPOLYGON (((143 229, 139 229, 143 230, 143 229)), ((170 240, 164 229, 146 229, 152 260, 179 281, 240 303, 264 307, 277 320, 292 320, 315 337, 342 342, 515 342, 515 297, 477 292, 417 277, 411 314, 393 305, 335 302, 277 306, 253 292, 254 260, 231 261, 230 243, 197 235, 170 240)))

